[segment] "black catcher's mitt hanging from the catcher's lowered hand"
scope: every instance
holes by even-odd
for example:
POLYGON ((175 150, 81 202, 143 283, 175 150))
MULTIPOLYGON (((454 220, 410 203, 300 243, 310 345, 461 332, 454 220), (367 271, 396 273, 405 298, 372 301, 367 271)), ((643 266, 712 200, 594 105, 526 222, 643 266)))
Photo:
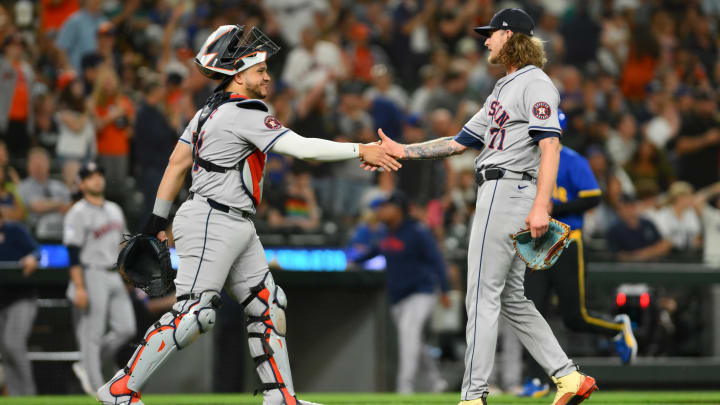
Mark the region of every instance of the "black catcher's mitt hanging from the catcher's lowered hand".
POLYGON ((165 295, 175 279, 167 241, 137 234, 126 235, 123 244, 116 265, 122 278, 151 297, 165 295))

